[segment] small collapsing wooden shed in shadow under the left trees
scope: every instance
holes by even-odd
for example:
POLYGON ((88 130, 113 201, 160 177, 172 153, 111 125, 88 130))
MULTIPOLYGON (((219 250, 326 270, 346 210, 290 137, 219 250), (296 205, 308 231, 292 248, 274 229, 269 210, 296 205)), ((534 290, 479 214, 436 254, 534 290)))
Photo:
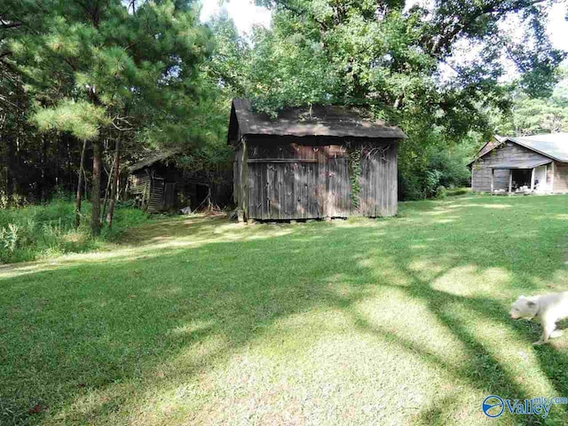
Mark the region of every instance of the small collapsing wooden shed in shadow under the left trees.
POLYGON ((208 196, 209 187, 177 169, 177 154, 178 151, 157 153, 130 166, 127 198, 149 213, 197 208, 208 196))

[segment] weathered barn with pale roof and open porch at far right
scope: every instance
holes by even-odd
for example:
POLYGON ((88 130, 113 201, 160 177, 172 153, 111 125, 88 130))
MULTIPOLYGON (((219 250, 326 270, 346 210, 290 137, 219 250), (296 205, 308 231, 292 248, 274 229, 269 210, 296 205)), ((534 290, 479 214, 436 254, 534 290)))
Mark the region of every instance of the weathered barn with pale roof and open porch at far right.
POLYGON ((497 136, 469 167, 474 192, 568 193, 568 133, 497 136))

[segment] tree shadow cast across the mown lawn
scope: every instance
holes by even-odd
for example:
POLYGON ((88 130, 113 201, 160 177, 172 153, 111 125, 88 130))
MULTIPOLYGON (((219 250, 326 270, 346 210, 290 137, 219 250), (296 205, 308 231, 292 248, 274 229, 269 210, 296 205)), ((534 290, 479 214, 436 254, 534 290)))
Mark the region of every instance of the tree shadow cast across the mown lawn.
MULTIPOLYGON (((436 215, 437 220, 456 214, 449 210, 436 215)), ((475 216, 476 211, 469 213, 475 216)), ((209 236, 222 224, 209 221, 200 227, 195 222, 187 237, 198 243, 191 247, 162 247, 163 241, 154 241, 146 246, 145 258, 118 256, 96 268, 74 264, 12 282, 0 280, 0 315, 6 319, 0 324, 5 384, 0 419, 7 424, 113 422, 116 412, 135 413, 161 394, 175 395, 192 377, 224 365, 249 345, 274 338, 280 320, 314 310, 343 312, 359 333, 386 340, 417 363, 441 368, 487 394, 540 396, 527 393, 463 315, 471 312, 472 319, 509 330, 508 338, 531 342, 531 329, 506 316, 507 297, 478 296, 475 291, 463 296, 433 284, 456 268, 474 266, 479 272, 509 272, 502 288, 507 295, 516 295, 517 288, 540 289, 534 280, 547 280, 564 260, 552 250, 556 238, 534 254, 540 265, 534 269, 525 263, 526 256, 516 258, 515 239, 498 243, 488 238, 493 229, 461 236, 461 221, 467 218, 458 217, 451 226, 408 219, 261 225, 238 231, 228 227, 215 237, 221 242, 209 241, 209 236), (275 232, 264 237, 267 231, 275 232), (552 261, 544 262, 550 256, 552 261), (435 272, 430 271, 432 264, 435 272), (398 275, 392 278, 386 272, 398 275), (330 287, 334 277, 340 277, 345 294, 330 287), (397 278, 404 283, 393 284, 397 278), (465 348, 463 365, 361 313, 359 305, 377 288, 386 302, 395 291, 425 305, 465 348), (46 408, 30 412, 36 405, 46 408)), ((540 247, 540 226, 525 228, 525 244, 540 247)), ((568 394, 566 354, 554 347, 534 352, 557 396, 568 394)), ((446 423, 454 415, 455 398, 430 404, 413 422, 446 423)), ((122 420, 137 422, 128 416, 122 420)))

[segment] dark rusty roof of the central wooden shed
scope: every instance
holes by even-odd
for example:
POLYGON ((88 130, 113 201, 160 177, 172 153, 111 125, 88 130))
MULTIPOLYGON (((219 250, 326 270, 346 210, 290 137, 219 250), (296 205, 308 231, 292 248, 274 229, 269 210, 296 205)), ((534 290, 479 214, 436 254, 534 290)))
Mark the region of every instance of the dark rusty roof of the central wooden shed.
POLYGON ((229 138, 236 134, 273 136, 331 136, 351 138, 406 138, 398 127, 372 120, 364 111, 343 106, 312 106, 280 111, 276 120, 253 113, 248 99, 233 99, 229 138))

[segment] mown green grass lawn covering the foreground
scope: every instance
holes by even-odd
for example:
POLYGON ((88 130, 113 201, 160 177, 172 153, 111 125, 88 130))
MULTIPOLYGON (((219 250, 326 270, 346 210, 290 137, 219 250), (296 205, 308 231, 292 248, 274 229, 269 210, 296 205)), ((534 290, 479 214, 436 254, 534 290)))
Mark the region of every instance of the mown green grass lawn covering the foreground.
POLYGON ((509 319, 568 289, 568 197, 464 196, 297 225, 177 218, 0 267, 0 423, 568 424, 568 333, 509 319))

